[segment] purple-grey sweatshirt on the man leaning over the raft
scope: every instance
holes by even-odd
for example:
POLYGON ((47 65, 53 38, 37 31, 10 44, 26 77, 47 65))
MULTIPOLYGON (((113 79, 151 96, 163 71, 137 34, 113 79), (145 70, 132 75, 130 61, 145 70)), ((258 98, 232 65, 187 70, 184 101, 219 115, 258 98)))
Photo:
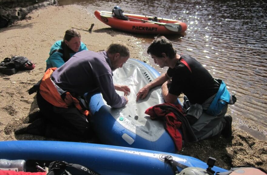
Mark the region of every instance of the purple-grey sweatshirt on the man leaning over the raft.
POLYGON ((110 59, 106 51, 83 50, 53 72, 51 79, 61 89, 82 96, 86 92, 101 92, 113 108, 126 105, 126 99, 115 91, 110 59))

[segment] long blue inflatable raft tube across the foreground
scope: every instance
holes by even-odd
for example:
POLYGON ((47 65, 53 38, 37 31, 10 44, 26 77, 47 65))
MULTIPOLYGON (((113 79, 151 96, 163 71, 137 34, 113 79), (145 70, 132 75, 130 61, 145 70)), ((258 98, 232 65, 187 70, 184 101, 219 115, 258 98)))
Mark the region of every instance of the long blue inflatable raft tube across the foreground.
MULTIPOLYGON (((25 160, 26 171, 35 167, 30 162, 41 165, 42 161, 59 160, 80 164, 101 175, 172 175, 171 165, 164 162, 166 156, 184 166, 208 167, 193 157, 137 148, 63 141, 0 141, 0 159, 25 160)), ((216 166, 212 170, 226 171, 216 166)))

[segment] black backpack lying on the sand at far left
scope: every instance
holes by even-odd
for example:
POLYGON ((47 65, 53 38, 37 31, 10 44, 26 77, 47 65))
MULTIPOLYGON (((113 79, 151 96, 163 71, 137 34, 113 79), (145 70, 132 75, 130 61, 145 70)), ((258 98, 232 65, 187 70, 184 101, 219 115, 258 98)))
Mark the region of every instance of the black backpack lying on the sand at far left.
POLYGON ((4 75, 13 75, 19 70, 32 70, 35 64, 32 63, 26 57, 13 56, 11 58, 5 58, 0 63, 0 72, 4 75))

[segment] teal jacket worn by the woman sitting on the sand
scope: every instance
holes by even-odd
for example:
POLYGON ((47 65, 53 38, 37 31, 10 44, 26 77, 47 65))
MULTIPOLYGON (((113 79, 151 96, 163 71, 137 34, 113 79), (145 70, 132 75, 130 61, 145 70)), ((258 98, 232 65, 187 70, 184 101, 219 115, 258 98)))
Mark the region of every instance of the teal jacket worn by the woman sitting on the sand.
MULTIPOLYGON (((53 50, 56 50, 56 49, 62 49, 61 47, 61 41, 62 40, 59 40, 59 41, 56 41, 55 44, 52 45, 51 49, 50 49, 50 52, 49 52, 49 58, 46 60, 46 70, 51 68, 51 67, 60 67, 62 66, 65 62, 63 60, 63 53, 60 53, 60 52, 54 52, 51 54, 51 52, 53 50)), ((83 51, 83 50, 88 50, 86 45, 83 44, 83 42, 81 42, 81 46, 79 48, 79 51, 83 51)), ((76 52, 77 53, 77 52, 76 52)), ((72 57, 75 53, 69 53, 69 57, 72 57)))

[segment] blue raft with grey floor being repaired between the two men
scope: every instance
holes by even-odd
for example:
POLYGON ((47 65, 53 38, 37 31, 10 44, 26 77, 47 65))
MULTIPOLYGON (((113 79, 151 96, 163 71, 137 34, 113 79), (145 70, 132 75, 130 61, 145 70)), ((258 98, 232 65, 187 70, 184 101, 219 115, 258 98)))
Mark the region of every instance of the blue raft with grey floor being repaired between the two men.
MULTIPOLYGON (((129 59, 122 68, 113 72, 114 84, 127 85, 131 89, 125 107, 111 108, 100 93, 87 95, 91 122, 103 144, 175 153, 174 142, 164 129, 163 122, 152 121, 144 113, 147 108, 164 103, 161 86, 150 90, 145 99, 136 102, 139 90, 159 75, 157 70, 146 63, 129 59)), ((123 92, 117 93, 123 96, 123 92)))

